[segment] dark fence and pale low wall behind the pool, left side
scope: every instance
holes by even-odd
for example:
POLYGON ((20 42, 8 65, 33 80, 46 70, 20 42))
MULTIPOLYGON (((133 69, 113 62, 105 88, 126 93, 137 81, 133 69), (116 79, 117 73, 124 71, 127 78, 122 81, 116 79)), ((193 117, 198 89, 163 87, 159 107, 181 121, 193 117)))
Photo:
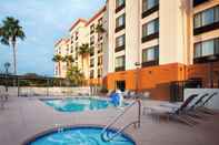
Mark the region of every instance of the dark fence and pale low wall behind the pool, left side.
POLYGON ((0 92, 12 96, 88 95, 90 87, 76 86, 67 79, 0 74, 0 92))

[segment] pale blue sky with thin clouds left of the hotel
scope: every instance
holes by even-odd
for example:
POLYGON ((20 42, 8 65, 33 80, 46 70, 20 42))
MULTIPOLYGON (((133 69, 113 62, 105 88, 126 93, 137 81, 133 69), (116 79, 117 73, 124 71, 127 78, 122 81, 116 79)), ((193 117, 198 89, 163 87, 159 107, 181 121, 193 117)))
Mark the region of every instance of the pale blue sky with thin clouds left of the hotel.
MULTIPOLYGON (((106 0, 0 0, 0 25, 6 17, 19 19, 26 33, 17 43, 18 74, 53 75, 53 45, 78 18, 89 19, 106 0)), ((0 73, 12 64, 12 49, 0 44, 0 73)), ((12 71, 12 66, 10 68, 12 71)))

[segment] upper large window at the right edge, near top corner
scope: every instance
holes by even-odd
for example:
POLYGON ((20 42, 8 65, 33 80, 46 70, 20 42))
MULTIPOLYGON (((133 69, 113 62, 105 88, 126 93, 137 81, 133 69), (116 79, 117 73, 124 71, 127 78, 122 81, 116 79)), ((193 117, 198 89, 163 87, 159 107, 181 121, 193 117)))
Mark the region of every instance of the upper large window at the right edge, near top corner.
POLYGON ((219 22, 219 6, 197 13, 193 18, 193 28, 201 28, 215 22, 219 22))

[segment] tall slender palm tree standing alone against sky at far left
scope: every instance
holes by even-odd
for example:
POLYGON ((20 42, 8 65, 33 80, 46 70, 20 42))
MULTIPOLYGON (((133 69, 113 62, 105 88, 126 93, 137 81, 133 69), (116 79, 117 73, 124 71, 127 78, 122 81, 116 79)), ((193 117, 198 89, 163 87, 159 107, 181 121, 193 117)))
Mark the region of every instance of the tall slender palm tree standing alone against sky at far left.
POLYGON ((3 25, 0 28, 1 43, 10 45, 13 49, 13 73, 17 74, 17 50, 16 44, 17 40, 24 40, 26 34, 22 30, 22 27, 19 24, 19 20, 7 17, 3 20, 3 25))

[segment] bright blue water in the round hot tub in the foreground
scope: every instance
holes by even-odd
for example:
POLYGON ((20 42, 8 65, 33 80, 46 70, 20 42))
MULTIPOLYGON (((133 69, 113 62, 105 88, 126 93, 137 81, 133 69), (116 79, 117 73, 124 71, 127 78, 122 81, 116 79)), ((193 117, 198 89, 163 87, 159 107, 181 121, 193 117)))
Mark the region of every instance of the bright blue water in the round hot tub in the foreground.
MULTIPOLYGON (((64 128, 62 132, 50 132, 37 139, 32 139, 26 145, 136 145, 136 143, 126 134, 120 134, 113 141, 104 142, 101 139, 102 127, 79 126, 64 128)), ((108 130, 109 135, 116 131, 108 130)))

